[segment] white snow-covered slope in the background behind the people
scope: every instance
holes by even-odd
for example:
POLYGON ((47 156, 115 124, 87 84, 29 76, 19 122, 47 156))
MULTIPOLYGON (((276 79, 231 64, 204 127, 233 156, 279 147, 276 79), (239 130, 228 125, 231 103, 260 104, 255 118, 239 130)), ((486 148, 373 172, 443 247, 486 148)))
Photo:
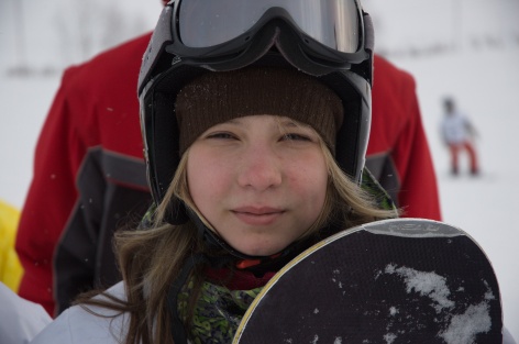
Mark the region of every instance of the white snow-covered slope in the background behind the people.
MULTIPOLYGON (((85 1, 47 0, 45 7, 0 1, 0 199, 23 204, 35 142, 63 68, 152 29, 161 1, 151 2, 156 3, 89 0, 101 11, 88 16, 79 5, 85 1), (13 20, 18 5, 24 21, 13 20), (97 33, 97 38, 74 40, 85 32, 97 33)), ((505 323, 519 340, 519 226, 512 222, 519 208, 519 1, 365 0, 364 4, 374 16, 377 51, 417 80, 443 220, 468 232, 493 262, 505 323), (448 153, 439 137, 441 100, 448 95, 479 132, 478 178, 448 174, 448 153)))

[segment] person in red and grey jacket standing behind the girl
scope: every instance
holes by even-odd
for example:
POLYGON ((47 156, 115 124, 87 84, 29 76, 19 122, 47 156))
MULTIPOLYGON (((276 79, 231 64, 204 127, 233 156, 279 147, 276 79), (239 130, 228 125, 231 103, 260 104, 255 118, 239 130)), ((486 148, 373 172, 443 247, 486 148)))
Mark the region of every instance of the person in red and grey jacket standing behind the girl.
MULTIPOLYGON (((135 90, 148 41, 143 35, 66 69, 40 134, 18 230, 19 293, 49 314, 119 280, 112 233, 151 203, 135 90)), ((413 78, 379 56, 374 74, 366 166, 405 217, 440 220, 413 78)))

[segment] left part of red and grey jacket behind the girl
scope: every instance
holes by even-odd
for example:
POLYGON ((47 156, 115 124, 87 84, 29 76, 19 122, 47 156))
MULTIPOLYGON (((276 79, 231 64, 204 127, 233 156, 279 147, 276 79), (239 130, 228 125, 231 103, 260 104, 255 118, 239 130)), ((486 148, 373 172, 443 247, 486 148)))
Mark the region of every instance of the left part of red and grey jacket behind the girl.
POLYGON ((95 281, 112 282, 104 273, 119 278, 111 233, 148 201, 136 99, 148 40, 68 68, 40 133, 16 236, 19 293, 51 314, 95 281))

